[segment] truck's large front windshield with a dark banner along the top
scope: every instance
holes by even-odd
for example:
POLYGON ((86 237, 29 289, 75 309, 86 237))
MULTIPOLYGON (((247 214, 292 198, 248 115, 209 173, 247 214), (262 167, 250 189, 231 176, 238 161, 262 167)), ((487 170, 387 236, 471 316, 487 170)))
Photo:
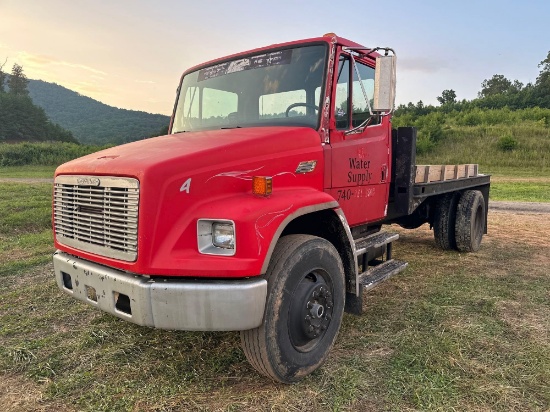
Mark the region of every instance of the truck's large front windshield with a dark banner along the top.
POLYGON ((172 133, 250 126, 318 128, 326 45, 238 58, 185 75, 172 133))

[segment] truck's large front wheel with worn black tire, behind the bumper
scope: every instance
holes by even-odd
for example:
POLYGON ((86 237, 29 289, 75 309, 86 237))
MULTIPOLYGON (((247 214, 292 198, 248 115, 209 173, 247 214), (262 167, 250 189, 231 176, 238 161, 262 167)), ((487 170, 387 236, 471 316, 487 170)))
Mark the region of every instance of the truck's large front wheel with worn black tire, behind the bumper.
POLYGON ((241 332, 242 347, 261 374, 296 382, 323 364, 336 340, 345 300, 342 261, 325 239, 289 235, 277 243, 266 279, 264 320, 241 332))

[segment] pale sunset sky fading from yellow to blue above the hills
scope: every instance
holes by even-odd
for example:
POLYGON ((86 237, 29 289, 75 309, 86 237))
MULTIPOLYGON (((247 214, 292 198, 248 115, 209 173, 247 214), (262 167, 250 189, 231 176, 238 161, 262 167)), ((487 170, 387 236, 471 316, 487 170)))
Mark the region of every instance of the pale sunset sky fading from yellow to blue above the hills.
POLYGON ((170 114, 183 71, 334 32, 397 53, 397 103, 473 99, 494 74, 534 82, 550 0, 0 0, 0 65, 111 106, 170 114))

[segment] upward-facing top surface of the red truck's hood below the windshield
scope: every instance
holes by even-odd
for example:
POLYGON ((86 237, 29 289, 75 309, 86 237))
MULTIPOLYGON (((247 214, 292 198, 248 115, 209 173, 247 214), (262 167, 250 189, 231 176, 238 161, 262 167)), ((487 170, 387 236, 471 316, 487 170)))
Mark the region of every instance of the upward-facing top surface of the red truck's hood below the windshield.
POLYGON ((111 175, 141 178, 152 169, 197 170, 277 153, 320 148, 319 134, 307 127, 254 127, 186 132, 102 150, 59 166, 56 175, 111 175))

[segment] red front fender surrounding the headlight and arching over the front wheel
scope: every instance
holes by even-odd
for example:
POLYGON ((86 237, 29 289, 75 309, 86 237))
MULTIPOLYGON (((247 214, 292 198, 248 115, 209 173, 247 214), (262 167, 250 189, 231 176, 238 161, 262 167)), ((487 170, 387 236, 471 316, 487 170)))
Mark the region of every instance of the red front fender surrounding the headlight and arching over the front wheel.
POLYGON ((212 276, 214 271, 217 277, 258 276, 265 273, 275 244, 289 222, 307 213, 337 207, 332 196, 310 187, 285 188, 267 198, 248 193, 211 199, 186 214, 185 222, 174 224, 151 266, 155 273, 164 274, 168 273, 163 268, 179 268, 179 276, 212 276), (235 255, 200 254, 196 240, 198 219, 233 221, 235 255))

